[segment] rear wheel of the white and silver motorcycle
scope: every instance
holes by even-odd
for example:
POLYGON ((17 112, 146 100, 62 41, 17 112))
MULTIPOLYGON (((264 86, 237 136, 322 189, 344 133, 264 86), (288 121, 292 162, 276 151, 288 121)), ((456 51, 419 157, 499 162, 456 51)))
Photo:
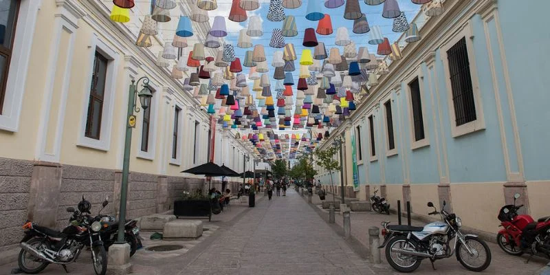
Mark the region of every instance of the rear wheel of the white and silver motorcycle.
POLYGON ((392 252, 392 248, 412 248, 415 250, 417 244, 415 241, 407 240, 405 236, 396 236, 386 245, 386 260, 398 272, 413 272, 421 263, 421 259, 416 256, 404 255, 399 252, 392 252))

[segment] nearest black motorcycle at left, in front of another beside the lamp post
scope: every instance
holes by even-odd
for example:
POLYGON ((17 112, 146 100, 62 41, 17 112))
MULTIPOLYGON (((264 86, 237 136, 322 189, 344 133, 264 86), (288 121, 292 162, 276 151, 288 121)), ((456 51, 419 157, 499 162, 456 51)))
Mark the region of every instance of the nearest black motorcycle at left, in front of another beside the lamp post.
MULTIPOLYGON (((103 201, 103 208, 109 203, 103 201)), ((91 217, 80 213, 89 213, 91 204, 88 201, 78 203, 78 210, 72 207, 72 223, 63 230, 57 231, 40 226, 31 221, 25 222, 23 229, 25 236, 20 242, 19 269, 28 274, 36 274, 44 270, 47 265, 54 263, 62 265, 68 273, 67 266, 78 259, 85 247, 91 248, 91 259, 96 275, 107 272, 107 252, 101 239, 102 224, 100 216, 91 217)), ((102 208, 102 209, 103 209, 102 208)))

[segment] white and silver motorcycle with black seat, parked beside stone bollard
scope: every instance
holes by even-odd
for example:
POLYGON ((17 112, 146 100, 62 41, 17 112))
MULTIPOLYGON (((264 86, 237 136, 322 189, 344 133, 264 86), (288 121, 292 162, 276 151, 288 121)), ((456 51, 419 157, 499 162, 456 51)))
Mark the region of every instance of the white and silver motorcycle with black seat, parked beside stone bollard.
POLYGON ((445 211, 445 201, 441 212, 434 204, 428 202, 434 212, 440 214, 444 222, 428 223, 424 227, 410 225, 388 225, 382 222, 382 236, 386 246, 386 259, 398 272, 413 272, 423 259, 430 259, 435 270, 434 261, 450 258, 456 252, 456 260, 467 270, 481 272, 491 264, 491 250, 485 241, 474 234, 463 234, 460 230, 462 221, 456 214, 445 211), (454 243, 451 243, 454 239, 454 243))

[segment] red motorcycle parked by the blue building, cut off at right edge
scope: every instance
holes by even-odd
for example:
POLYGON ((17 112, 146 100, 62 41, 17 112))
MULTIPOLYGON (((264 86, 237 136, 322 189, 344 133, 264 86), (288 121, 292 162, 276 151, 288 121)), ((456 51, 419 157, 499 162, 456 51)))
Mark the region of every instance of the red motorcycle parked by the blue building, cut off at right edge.
POLYGON ((543 253, 550 257, 550 217, 542 217, 534 221, 528 214, 518 214, 516 199, 520 194, 514 195, 514 205, 506 205, 500 208, 498 220, 503 229, 496 235, 496 243, 504 252, 520 256, 527 252, 533 256, 543 253))

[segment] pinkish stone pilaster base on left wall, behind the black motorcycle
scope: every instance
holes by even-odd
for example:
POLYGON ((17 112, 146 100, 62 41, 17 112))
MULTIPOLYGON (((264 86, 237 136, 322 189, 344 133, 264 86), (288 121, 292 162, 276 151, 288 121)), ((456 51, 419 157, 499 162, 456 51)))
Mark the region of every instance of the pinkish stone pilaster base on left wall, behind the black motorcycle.
POLYGON ((47 228, 56 228, 61 195, 61 164, 36 162, 32 169, 27 219, 47 228))

